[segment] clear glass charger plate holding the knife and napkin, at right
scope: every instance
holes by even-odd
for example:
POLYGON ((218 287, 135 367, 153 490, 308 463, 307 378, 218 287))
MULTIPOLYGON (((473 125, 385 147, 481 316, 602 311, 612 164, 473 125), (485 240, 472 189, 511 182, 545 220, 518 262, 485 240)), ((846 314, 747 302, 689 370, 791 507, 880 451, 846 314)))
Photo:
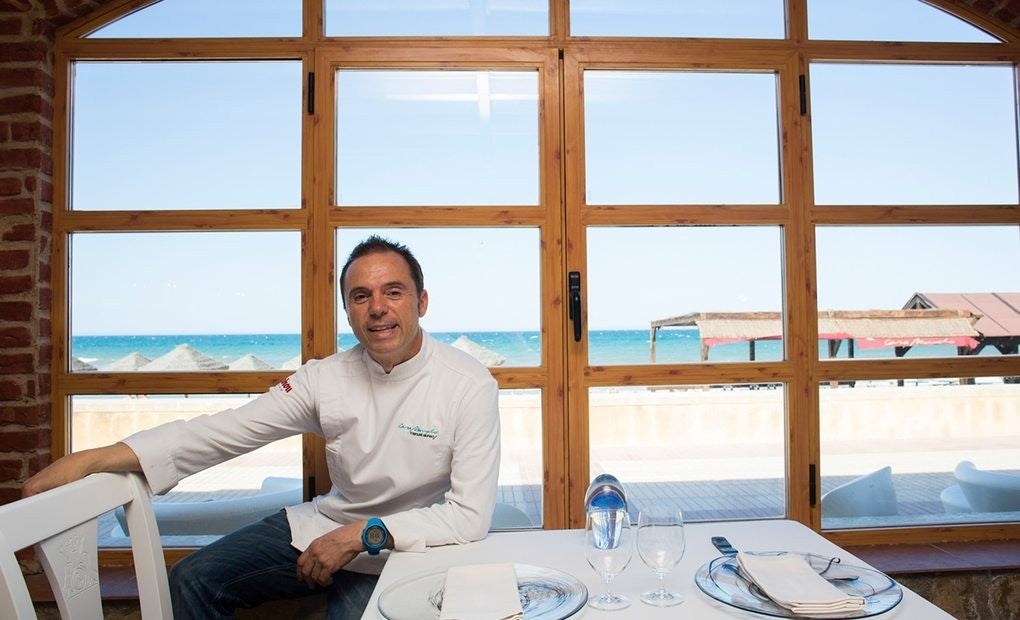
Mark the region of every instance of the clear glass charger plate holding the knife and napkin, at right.
MULTIPOLYGON (((779 556, 792 552, 753 552, 756 555, 779 556)), ((751 583, 740 572, 735 556, 720 556, 702 565, 695 573, 695 583, 703 592, 716 601, 749 612, 774 616, 776 618, 819 618, 839 620, 844 618, 867 618, 883 614, 903 600, 903 588, 888 575, 880 571, 843 564, 838 559, 815 554, 793 554, 803 557, 818 574, 825 577, 840 591, 865 600, 863 609, 840 614, 805 616, 795 614, 773 602, 763 591, 751 583)))

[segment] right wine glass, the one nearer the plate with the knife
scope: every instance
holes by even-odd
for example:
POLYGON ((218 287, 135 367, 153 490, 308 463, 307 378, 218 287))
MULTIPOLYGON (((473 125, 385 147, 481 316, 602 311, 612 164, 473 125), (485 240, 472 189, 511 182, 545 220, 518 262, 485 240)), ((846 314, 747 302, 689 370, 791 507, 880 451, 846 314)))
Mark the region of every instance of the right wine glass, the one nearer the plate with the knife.
POLYGON ((683 558, 683 513, 661 504, 642 508, 638 515, 638 555, 659 577, 658 589, 642 593, 649 605, 668 607, 683 603, 683 596, 666 589, 666 573, 683 558))

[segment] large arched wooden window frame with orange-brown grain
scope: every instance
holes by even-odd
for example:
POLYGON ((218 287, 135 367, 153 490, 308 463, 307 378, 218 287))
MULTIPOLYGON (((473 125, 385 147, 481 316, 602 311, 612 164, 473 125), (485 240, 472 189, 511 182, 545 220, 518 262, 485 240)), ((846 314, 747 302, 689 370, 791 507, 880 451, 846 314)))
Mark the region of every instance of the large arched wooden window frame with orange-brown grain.
MULTIPOLYGON (((817 226, 873 224, 1020 225, 1018 205, 816 206, 811 178, 810 101, 801 84, 815 61, 1020 63, 1020 33, 949 1, 931 2, 1000 37, 997 44, 885 44, 809 41, 807 0, 787 0, 784 40, 571 38, 566 0, 551 0, 549 37, 327 39, 322 6, 305 0, 304 34, 290 39, 102 40, 85 37, 140 4, 120 0, 58 33, 54 75, 53 444, 68 450, 69 400, 75 395, 258 393, 279 371, 211 373, 71 373, 68 240, 76 231, 297 230, 302 235, 302 354, 334 353, 337 326, 335 231, 345 226, 529 226, 542 243, 541 364, 493 370, 501 387, 543 391, 545 526, 581 522, 588 483, 588 389, 617 384, 782 381, 786 384, 787 517, 820 529, 809 503, 809 467, 819 462, 818 384, 848 379, 1020 375, 1020 358, 822 361, 817 355, 817 226), (302 206, 294 209, 187 212, 70 211, 68 123, 70 70, 76 60, 291 59, 316 80, 314 113, 302 116, 302 206), (539 71, 541 194, 538 206, 337 207, 333 197, 334 75, 338 68, 471 68, 539 71), (589 68, 765 70, 777 76, 783 197, 778 205, 599 207, 584 202, 582 74, 589 68), (565 274, 583 272, 590 225, 781 226, 784 246, 786 357, 768 363, 589 366, 585 339, 574 343, 565 307, 565 274)), ((308 83, 311 84, 311 83, 308 83)), ((810 87, 810 85, 807 85, 810 87)), ((809 91, 810 92, 810 91, 809 91)), ((322 447, 305 441, 305 469, 327 485, 322 447)), ((311 490, 310 488, 307 490, 311 490)), ((840 544, 1020 537, 1020 523, 826 531, 840 544)))

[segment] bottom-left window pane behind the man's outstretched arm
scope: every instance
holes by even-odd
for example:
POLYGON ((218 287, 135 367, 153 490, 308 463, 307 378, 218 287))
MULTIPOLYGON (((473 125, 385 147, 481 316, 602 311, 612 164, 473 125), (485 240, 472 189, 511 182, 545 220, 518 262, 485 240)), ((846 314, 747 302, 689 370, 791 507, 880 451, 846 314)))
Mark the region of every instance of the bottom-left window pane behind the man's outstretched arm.
MULTIPOLYGON (((239 407, 243 395, 103 395, 71 397, 71 452, 105 446, 176 419, 239 407)), ((207 545, 302 500, 301 435, 210 467, 153 498, 164 547, 207 545), (215 513, 215 521, 208 520, 215 513)), ((100 545, 129 547, 117 516, 99 520, 100 545)))

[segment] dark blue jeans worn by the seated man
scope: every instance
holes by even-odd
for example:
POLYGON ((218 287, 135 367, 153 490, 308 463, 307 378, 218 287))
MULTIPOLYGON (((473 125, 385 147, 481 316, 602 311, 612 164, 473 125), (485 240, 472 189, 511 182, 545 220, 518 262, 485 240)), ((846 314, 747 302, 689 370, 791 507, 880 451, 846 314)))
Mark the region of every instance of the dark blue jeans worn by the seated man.
POLYGON ((170 569, 173 618, 234 618, 238 608, 314 591, 326 592, 329 620, 361 618, 378 575, 341 570, 332 585, 312 588, 297 577, 300 555, 283 510, 230 533, 170 569))

